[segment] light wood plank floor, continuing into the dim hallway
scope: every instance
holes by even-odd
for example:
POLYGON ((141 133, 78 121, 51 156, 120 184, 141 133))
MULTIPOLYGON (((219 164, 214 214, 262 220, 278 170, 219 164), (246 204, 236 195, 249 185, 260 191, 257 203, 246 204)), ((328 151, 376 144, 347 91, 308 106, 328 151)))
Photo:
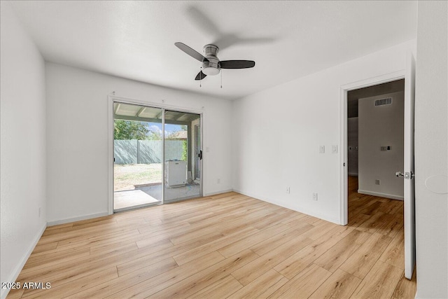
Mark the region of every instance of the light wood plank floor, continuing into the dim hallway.
POLYGON ((18 278, 51 288, 8 298, 414 298, 402 209, 353 192, 340 226, 225 193, 52 226, 18 278))

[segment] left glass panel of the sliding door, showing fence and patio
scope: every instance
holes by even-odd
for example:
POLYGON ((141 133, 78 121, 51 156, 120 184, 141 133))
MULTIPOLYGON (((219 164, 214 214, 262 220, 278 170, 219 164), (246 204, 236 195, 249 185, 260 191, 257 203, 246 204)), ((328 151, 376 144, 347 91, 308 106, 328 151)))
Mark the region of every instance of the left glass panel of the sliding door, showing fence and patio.
POLYGON ((160 108, 113 104, 113 210, 162 203, 160 108))

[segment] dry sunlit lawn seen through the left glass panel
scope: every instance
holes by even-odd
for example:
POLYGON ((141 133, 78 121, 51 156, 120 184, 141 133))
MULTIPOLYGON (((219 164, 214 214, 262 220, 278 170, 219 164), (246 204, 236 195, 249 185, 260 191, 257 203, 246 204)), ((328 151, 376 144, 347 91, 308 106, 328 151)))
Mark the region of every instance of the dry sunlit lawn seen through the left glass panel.
POLYGON ((113 190, 134 190, 134 185, 162 183, 162 164, 113 165, 113 190))

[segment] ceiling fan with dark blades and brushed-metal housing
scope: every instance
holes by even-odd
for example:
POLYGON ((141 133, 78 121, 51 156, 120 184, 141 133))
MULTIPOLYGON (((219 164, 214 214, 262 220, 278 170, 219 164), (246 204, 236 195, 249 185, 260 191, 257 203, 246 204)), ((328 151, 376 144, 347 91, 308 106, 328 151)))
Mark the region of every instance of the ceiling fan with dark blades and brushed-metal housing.
POLYGON ((185 43, 174 43, 177 48, 183 50, 195 60, 202 62, 202 71, 197 74, 195 80, 202 80, 207 76, 213 76, 219 74, 221 69, 249 69, 255 66, 255 62, 252 60, 223 60, 220 61, 216 56, 219 48, 215 45, 205 45, 204 55, 193 50, 185 43))

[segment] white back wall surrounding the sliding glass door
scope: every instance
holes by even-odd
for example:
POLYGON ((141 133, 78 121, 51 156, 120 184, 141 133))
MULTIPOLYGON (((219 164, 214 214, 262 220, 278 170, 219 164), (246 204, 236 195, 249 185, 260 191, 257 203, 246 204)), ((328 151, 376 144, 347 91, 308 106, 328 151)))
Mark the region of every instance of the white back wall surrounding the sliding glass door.
POLYGON ((113 91, 203 111, 204 149, 209 148, 204 151, 204 195, 232 189, 231 102, 52 63, 46 64, 46 79, 50 224, 108 212, 108 95, 113 91))

